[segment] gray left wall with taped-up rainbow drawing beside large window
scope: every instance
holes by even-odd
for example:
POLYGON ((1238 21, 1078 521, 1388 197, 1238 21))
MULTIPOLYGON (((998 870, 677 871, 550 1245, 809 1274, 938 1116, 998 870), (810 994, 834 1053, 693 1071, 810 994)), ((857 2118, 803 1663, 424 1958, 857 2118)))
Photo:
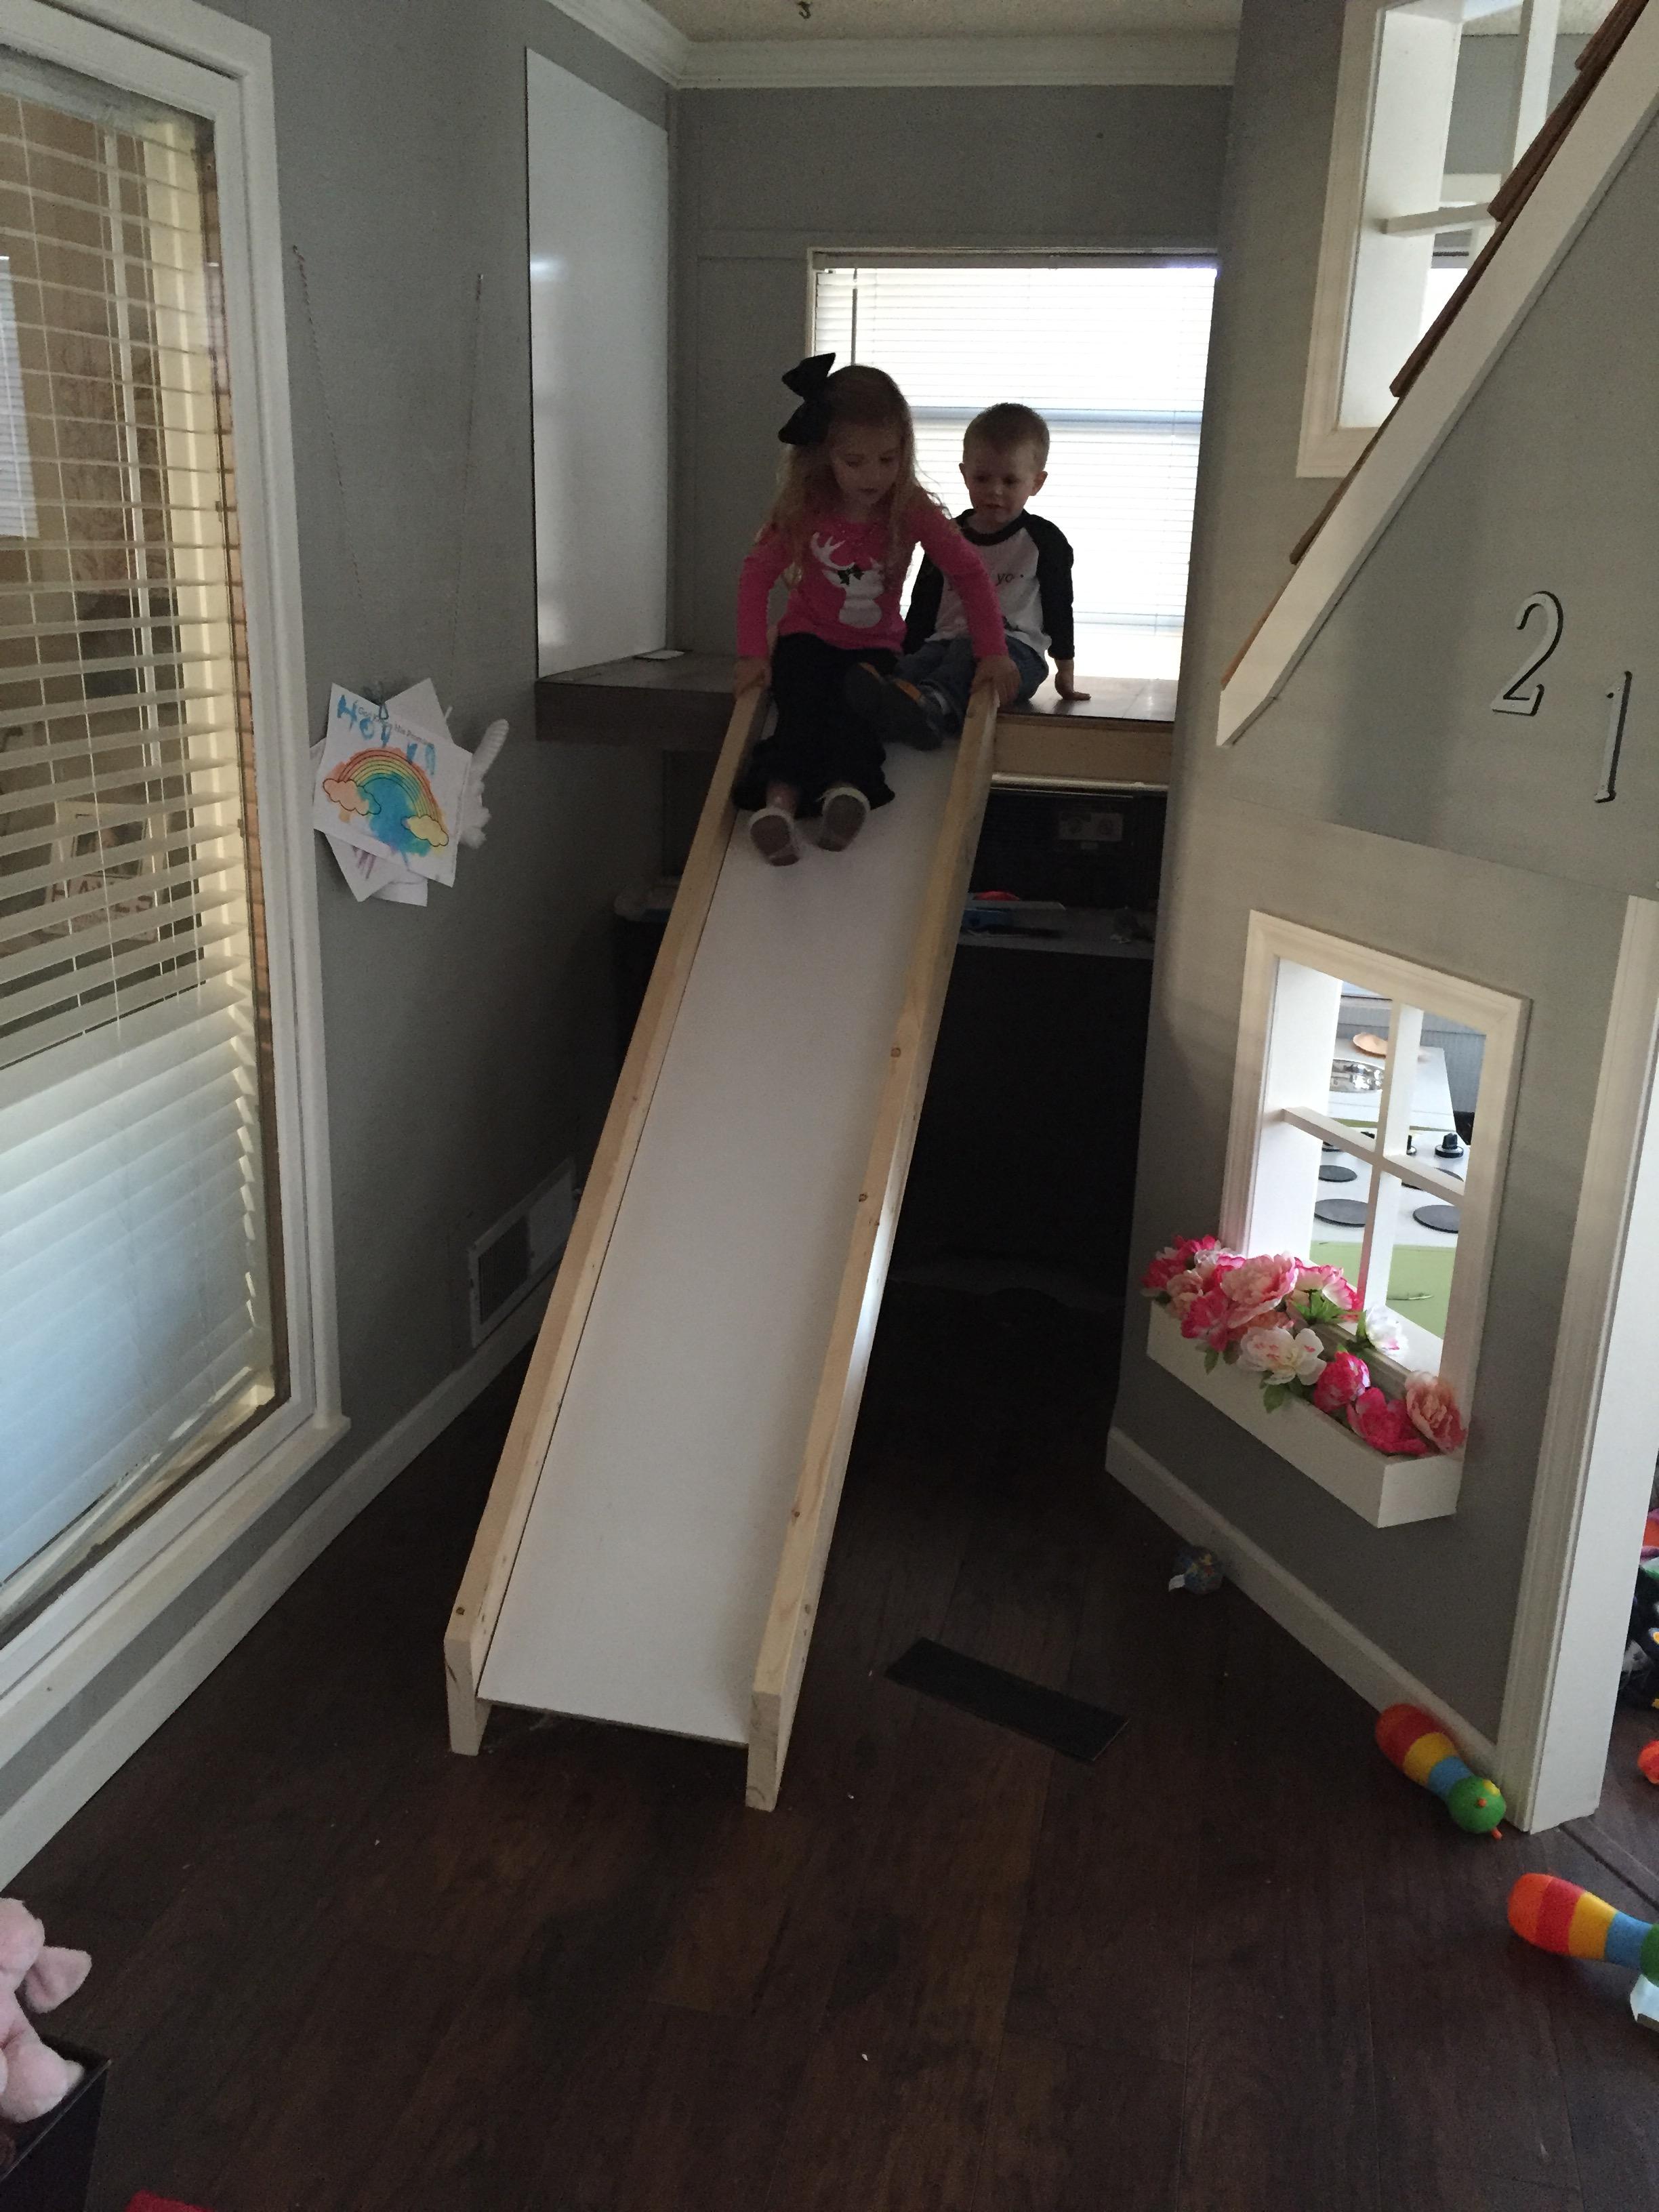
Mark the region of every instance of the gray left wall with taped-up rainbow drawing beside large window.
POLYGON ((668 119, 668 95, 546 0, 226 7, 274 44, 312 728, 321 732, 330 681, 431 675, 458 708, 458 734, 471 741, 507 714, 513 737, 489 779, 489 843, 462 854, 456 889, 436 889, 425 911, 356 907, 319 847, 354 1429, 142 1650, 0 1774, 0 1805, 155 1663, 347 1458, 467 1358, 469 1241, 597 1135, 613 1077, 611 898, 655 872, 655 768, 615 750, 538 748, 531 734, 524 49, 655 122, 668 119), (436 1055, 434 1035, 445 1040, 436 1055))

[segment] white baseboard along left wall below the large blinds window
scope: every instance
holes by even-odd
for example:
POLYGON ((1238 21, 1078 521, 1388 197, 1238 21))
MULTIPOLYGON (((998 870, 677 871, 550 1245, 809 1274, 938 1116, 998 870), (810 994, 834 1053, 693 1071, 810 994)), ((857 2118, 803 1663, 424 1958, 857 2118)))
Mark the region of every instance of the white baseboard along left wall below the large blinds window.
MULTIPOLYGON (((345 1473, 285 1528, 270 1551, 179 1641, 95 1721, 15 1805, 0 1814, 0 1885, 11 1882, 35 1851, 168 1721, 212 1674, 290 1584, 334 1537, 487 1389, 515 1352, 535 1336, 551 1285, 533 1292, 453 1374, 427 1391, 400 1422, 369 1444, 345 1473)), ((431 1648, 434 1674, 442 1666, 431 1648)))

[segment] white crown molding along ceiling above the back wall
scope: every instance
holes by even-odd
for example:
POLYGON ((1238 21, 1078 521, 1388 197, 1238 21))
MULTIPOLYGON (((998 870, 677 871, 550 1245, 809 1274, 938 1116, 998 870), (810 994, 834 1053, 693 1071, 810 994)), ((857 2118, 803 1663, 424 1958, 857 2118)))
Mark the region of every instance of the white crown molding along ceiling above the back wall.
POLYGON ((690 40, 648 0, 551 0, 677 91, 878 84, 1232 84, 1230 31, 1091 38, 690 40))

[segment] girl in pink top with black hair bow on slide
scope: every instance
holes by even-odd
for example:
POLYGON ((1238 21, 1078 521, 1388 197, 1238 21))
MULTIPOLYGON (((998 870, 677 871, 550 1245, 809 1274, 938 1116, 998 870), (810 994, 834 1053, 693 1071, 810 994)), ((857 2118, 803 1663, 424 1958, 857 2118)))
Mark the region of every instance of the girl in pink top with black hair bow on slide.
POLYGON ((916 544, 962 597, 980 681, 1000 701, 1020 688, 984 562, 916 482, 905 394, 880 369, 830 374, 834 358, 816 354, 783 378, 801 405, 779 431, 790 447, 779 495, 737 586, 737 690, 770 684, 779 719, 734 799, 757 810, 750 836, 779 867, 799 858, 796 816, 821 814, 818 843, 841 852, 894 796, 880 739, 843 686, 858 661, 887 675, 898 659, 898 595, 916 544), (785 573, 790 597, 768 659, 765 602, 785 573))

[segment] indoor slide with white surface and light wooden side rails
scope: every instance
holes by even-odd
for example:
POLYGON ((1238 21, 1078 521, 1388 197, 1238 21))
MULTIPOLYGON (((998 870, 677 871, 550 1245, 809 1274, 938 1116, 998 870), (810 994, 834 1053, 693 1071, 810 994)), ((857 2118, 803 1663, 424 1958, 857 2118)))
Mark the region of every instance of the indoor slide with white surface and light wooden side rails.
POLYGON ((748 1745, 776 1805, 991 785, 995 706, 768 867, 732 712, 445 1637, 491 1703, 748 1745))

